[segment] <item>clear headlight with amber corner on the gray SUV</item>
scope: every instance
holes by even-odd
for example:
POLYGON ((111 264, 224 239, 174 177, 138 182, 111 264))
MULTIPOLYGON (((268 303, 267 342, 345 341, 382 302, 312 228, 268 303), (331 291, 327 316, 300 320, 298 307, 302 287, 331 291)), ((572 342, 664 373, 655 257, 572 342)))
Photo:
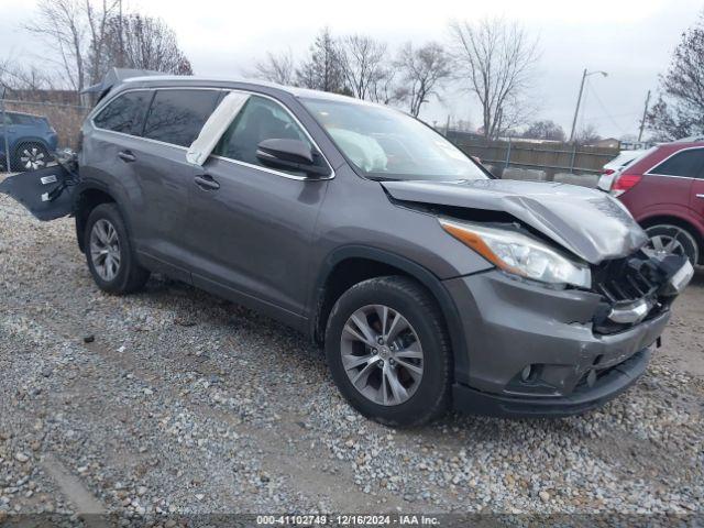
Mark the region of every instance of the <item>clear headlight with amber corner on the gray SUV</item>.
POLYGON ((548 284, 592 286, 592 273, 549 245, 522 233, 439 219, 442 229, 501 270, 548 284))

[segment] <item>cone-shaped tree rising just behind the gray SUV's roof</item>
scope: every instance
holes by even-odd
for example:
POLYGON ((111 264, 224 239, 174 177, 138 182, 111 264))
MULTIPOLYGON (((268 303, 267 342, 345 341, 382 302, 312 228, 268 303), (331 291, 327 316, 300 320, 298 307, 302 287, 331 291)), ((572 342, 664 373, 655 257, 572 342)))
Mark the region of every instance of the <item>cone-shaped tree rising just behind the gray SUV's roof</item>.
POLYGON ((296 82, 315 90, 349 92, 344 82, 340 47, 328 28, 318 34, 310 46, 310 56, 296 69, 296 82))

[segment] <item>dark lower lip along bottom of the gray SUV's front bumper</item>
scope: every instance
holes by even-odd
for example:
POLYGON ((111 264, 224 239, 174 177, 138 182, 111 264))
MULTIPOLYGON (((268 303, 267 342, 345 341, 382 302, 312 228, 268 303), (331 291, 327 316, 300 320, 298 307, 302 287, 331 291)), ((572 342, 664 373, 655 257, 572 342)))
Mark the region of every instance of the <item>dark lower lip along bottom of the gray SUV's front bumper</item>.
POLYGON ((646 372, 650 361, 650 350, 645 349, 628 360, 601 372, 595 380, 588 375, 568 396, 527 397, 504 396, 473 389, 455 384, 452 393, 454 407, 459 410, 514 418, 561 417, 585 413, 615 398, 646 372))

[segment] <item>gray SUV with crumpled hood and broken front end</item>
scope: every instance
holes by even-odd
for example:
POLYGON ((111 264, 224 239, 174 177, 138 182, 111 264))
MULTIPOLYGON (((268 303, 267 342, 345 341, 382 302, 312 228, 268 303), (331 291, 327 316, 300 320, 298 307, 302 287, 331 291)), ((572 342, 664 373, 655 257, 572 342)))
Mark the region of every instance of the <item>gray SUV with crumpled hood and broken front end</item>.
POLYGON ((267 84, 109 84, 76 163, 2 189, 75 216, 106 292, 157 272, 307 333, 388 425, 601 405, 693 274, 603 193, 495 179, 402 112, 267 84))

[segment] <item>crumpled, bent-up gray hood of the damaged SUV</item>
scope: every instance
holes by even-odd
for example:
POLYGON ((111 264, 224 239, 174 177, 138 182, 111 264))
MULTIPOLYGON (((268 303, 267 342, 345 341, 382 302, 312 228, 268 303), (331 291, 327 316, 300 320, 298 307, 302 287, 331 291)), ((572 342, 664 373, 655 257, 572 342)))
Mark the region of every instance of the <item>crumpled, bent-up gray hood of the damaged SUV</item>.
POLYGON ((397 200, 504 211, 592 264, 629 255, 647 242, 644 230, 606 193, 573 185, 481 179, 382 182, 397 200))

